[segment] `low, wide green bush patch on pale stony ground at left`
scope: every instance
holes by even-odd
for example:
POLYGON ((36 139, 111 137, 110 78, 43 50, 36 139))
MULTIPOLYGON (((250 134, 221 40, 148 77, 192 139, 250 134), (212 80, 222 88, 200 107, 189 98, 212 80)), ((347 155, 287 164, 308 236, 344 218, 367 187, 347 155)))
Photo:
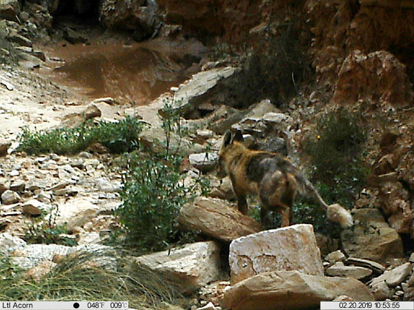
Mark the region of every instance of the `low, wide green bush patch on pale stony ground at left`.
POLYGON ((19 137, 17 151, 28 154, 73 154, 98 142, 108 147, 110 152, 128 152, 138 147, 143 126, 144 123, 137 118, 126 117, 116 123, 88 121, 79 127, 45 132, 32 132, 26 127, 19 137))

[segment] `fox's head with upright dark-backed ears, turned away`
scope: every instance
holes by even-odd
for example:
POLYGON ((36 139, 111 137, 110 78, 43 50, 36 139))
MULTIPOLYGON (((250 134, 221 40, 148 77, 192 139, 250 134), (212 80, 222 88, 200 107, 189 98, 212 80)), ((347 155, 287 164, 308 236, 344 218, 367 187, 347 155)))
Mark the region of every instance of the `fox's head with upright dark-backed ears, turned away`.
POLYGON ((219 150, 219 176, 225 176, 228 174, 228 162, 233 156, 239 154, 241 149, 245 148, 243 141, 243 135, 241 132, 232 134, 230 130, 226 131, 226 134, 224 134, 223 137, 223 143, 221 143, 219 150))

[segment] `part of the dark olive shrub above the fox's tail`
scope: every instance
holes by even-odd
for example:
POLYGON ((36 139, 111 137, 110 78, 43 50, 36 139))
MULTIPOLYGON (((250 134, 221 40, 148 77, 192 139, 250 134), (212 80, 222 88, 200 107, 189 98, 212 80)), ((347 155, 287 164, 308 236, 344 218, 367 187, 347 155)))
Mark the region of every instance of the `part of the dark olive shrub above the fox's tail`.
POLYGON ((328 186, 331 200, 351 206, 366 177, 362 152, 366 130, 360 116, 343 107, 319 117, 315 132, 305 140, 313 179, 328 186))

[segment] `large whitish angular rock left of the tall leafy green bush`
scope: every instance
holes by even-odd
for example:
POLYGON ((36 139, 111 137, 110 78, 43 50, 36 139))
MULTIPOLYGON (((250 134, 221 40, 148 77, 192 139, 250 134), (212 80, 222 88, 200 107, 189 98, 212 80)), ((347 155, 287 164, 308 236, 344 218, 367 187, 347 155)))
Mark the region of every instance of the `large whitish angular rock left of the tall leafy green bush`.
POLYGON ((56 225, 66 223, 66 229, 72 231, 76 226, 82 227, 85 223, 95 218, 99 212, 99 207, 93 205, 84 198, 70 198, 57 207, 56 225))

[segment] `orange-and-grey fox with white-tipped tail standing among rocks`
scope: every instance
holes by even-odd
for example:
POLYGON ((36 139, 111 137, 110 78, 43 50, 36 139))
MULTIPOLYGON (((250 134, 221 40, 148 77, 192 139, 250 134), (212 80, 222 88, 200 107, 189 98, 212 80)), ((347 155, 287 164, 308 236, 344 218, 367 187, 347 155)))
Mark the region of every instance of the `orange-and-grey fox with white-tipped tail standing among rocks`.
POLYGON ((304 177, 289 158, 277 153, 248 149, 241 132, 228 130, 223 137, 218 156, 219 170, 231 180, 237 196, 237 207, 247 215, 246 196, 259 196, 260 220, 269 225, 269 211, 282 215, 282 227, 293 223, 293 203, 297 194, 308 192, 326 210, 328 220, 342 228, 353 226, 351 212, 339 204, 328 205, 312 183, 304 177))

